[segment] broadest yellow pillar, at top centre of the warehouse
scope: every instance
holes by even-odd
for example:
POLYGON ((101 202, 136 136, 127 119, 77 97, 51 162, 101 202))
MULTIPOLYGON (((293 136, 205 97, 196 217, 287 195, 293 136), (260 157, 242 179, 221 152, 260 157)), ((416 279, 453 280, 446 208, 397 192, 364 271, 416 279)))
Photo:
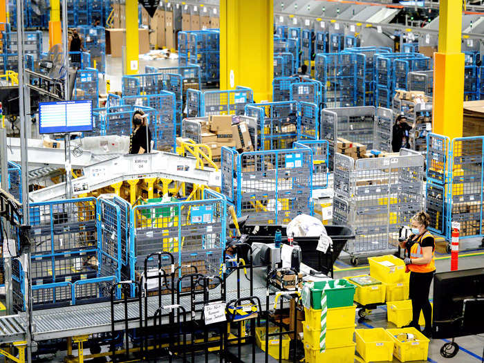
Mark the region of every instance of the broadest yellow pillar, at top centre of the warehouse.
POLYGON ((272 100, 274 1, 220 0, 220 88, 246 86, 272 100))

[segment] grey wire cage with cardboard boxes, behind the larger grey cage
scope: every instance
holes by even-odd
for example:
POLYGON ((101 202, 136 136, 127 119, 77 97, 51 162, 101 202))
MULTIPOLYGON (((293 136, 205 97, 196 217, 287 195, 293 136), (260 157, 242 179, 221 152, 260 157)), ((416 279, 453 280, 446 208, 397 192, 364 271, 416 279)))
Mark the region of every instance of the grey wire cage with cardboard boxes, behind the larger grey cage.
POLYGON ((393 112, 373 106, 324 109, 319 138, 329 141, 329 168, 338 138, 366 145, 367 149, 391 151, 393 112))

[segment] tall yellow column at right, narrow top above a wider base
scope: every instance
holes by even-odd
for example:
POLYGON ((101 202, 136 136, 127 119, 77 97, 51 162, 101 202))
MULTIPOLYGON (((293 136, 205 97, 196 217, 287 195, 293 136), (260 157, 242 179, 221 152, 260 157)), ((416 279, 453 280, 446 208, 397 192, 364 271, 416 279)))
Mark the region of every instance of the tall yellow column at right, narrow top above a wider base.
POLYGON ((460 52, 462 1, 440 0, 438 53, 434 54, 434 133, 463 135, 464 55, 460 52))

